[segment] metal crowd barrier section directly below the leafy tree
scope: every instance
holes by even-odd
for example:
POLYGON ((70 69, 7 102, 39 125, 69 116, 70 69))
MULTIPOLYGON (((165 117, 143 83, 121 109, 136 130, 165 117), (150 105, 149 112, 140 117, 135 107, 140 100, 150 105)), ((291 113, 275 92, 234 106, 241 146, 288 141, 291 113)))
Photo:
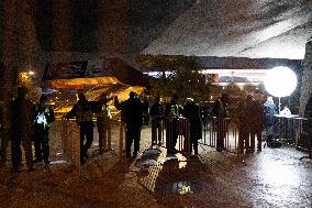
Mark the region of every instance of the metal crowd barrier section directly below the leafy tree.
POLYGON ((151 117, 151 119, 152 146, 166 147, 169 153, 177 151, 187 155, 191 154, 190 127, 186 118, 164 120, 161 117, 151 117))

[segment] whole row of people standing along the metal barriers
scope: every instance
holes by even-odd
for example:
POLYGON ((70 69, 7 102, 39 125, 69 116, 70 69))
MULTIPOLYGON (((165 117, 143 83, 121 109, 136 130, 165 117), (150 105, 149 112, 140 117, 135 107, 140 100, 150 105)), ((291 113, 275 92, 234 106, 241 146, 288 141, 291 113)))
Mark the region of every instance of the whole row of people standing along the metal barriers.
MULTIPOLYGON (((147 98, 141 99, 138 95, 131 91, 129 99, 120 102, 119 98, 108 98, 105 94, 100 96, 98 101, 87 100, 83 92, 78 94, 78 101, 73 109, 63 118, 75 118, 80 130, 80 163, 89 158, 89 149, 93 142, 93 117, 97 118, 99 132, 99 151, 102 154, 107 150, 109 124, 108 102, 113 105, 121 112, 121 121, 125 123, 125 156, 136 157, 140 153, 141 130, 148 125, 152 119, 152 144, 163 142, 163 132, 166 129, 167 153, 177 152, 176 144, 179 135, 178 121, 182 117, 189 123, 189 139, 193 154, 198 154, 199 140, 202 139, 202 123, 209 120, 204 108, 197 103, 193 98, 180 99, 172 95, 167 103, 163 103, 160 97, 155 97, 154 102, 147 98), (182 105, 181 105, 182 103, 182 105), (131 152, 133 146, 133 152, 131 152)), ((19 172, 22 160, 21 146, 25 152, 29 171, 33 171, 33 164, 44 162, 49 164, 49 139, 48 130, 54 122, 54 111, 46 105, 47 97, 42 95, 38 102, 34 105, 26 98, 26 89, 20 87, 18 97, 12 101, 10 109, 11 118, 11 155, 12 167, 19 172), (32 153, 34 142, 35 154, 32 153), (33 158, 35 157, 35 158, 33 158)), ((2 113, 2 112, 0 112, 2 113)), ((253 153, 261 151, 261 133, 264 130, 271 131, 274 114, 277 114, 277 107, 271 97, 265 97, 260 91, 246 95, 241 99, 237 107, 238 123, 238 153, 253 153)), ((226 119, 229 112, 229 95, 222 94, 213 105, 210 106, 209 117, 214 118, 216 128, 216 151, 224 150, 224 139, 227 131, 226 119)), ((270 140, 271 135, 268 136, 270 140)), ((3 150, 2 154, 3 155, 3 150)), ((1 158, 2 161, 5 158, 1 158)))

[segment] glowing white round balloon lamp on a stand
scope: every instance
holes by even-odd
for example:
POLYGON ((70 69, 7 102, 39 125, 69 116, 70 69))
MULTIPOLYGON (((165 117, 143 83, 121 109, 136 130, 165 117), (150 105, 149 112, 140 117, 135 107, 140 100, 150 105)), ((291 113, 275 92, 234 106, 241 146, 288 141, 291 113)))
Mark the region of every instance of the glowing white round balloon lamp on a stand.
POLYGON ((266 73, 264 83, 270 95, 281 98, 296 89, 297 76, 290 68, 278 66, 266 73))

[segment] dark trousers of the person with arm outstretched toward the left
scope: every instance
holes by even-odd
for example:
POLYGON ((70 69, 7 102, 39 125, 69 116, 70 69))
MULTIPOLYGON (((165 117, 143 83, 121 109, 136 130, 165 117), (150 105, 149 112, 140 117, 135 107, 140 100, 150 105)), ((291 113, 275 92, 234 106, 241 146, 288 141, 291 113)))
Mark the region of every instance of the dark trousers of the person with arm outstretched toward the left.
POLYGON ((80 130, 80 160, 88 157, 88 150, 93 142, 93 122, 79 122, 80 130), (87 139, 85 143, 85 139, 87 139))

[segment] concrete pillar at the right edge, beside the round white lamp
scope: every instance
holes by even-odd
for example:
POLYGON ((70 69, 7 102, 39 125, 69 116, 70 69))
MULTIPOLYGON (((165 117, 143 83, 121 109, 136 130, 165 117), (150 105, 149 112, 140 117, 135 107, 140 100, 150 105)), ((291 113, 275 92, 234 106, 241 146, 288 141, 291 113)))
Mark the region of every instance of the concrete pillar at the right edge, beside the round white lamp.
POLYGON ((307 102, 312 95, 312 40, 305 44, 305 55, 303 59, 303 76, 300 96, 299 114, 303 117, 307 102))

